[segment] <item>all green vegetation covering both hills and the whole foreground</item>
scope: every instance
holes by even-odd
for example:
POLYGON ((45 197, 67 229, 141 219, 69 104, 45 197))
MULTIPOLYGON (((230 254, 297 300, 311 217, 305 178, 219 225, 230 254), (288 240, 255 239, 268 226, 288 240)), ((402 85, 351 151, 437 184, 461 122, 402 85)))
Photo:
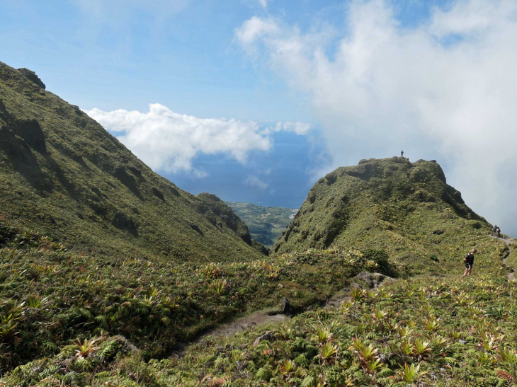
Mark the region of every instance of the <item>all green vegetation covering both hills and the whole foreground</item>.
POLYGON ((517 249, 436 162, 338 168, 267 255, 225 202, 0 63, 0 172, 2 386, 517 385, 517 249), (295 317, 181 351, 284 297, 295 317))

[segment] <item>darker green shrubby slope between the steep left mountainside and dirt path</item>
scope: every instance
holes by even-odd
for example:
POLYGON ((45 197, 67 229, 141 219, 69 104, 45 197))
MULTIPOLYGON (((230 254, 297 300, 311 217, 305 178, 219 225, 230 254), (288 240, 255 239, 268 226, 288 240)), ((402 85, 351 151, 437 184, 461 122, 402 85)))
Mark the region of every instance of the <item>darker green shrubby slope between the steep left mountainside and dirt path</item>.
POLYGON ((372 267, 338 251, 178 265, 68 251, 0 219, 0 371, 55 354, 77 337, 123 335, 146 358, 237 313, 317 304, 372 267))

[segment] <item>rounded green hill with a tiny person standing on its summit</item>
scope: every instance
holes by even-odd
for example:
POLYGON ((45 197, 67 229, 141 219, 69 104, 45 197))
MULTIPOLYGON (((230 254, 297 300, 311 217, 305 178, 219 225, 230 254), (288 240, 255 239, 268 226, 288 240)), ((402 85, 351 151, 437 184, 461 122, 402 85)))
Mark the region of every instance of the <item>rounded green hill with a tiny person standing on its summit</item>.
POLYGON ((273 250, 375 247, 415 275, 455 265, 489 229, 436 161, 370 159, 319 179, 273 250))

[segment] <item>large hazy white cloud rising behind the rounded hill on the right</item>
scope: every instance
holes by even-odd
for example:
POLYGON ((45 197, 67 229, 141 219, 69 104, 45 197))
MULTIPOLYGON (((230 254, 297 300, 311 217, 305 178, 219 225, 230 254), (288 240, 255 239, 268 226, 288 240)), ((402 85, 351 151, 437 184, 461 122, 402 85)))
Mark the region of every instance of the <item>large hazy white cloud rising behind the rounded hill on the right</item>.
MULTIPOLYGON (((246 52, 312 96, 334 165, 437 158, 489 221, 517 214, 517 2, 458 0, 403 28, 388 0, 352 1, 339 42, 279 19, 236 30, 246 52), (259 56, 258 53, 261 53, 259 56)), ((335 39, 335 37, 334 37, 335 39)), ((517 233, 517 226, 512 230, 517 233)))

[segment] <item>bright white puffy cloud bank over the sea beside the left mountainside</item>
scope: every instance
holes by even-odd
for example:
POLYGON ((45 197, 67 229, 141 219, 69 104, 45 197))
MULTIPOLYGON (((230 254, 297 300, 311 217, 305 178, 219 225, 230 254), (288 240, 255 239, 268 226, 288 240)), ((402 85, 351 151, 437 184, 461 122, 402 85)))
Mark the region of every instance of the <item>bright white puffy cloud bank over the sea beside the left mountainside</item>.
POLYGON ((269 128, 253 121, 198 118, 172 112, 159 103, 149 104, 149 112, 94 108, 86 113, 118 134, 117 138, 152 169, 191 172, 200 178, 206 176, 205 171, 193 167, 200 154, 225 154, 246 163, 251 151, 271 149, 272 133, 279 125, 281 130, 297 134, 304 134, 307 126, 302 122, 279 122, 269 128))

